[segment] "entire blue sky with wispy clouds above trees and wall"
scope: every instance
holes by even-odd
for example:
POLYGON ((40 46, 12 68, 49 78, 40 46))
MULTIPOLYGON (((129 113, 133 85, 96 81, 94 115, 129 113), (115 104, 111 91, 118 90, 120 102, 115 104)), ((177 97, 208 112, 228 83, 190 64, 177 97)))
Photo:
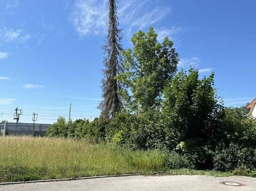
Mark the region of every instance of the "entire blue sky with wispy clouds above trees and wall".
MULTIPOLYGON (((0 0, 0 120, 94 118, 100 101, 106 0, 0 0)), ((124 48, 153 26, 174 41, 179 69, 215 72, 226 106, 256 97, 256 1, 119 0, 124 48)))

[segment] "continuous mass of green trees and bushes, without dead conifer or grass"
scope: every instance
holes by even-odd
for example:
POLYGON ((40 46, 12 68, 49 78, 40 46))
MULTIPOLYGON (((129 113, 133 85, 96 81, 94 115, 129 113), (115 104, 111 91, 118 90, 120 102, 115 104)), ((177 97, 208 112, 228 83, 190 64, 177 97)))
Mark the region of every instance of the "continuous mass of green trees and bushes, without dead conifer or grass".
POLYGON ((179 160, 169 162, 170 168, 256 169, 256 120, 245 107, 223 107, 214 74, 200 78, 192 68, 177 73, 173 42, 159 43, 153 28, 134 34, 132 43, 133 49, 123 51, 124 73, 116 76, 123 84, 123 110, 111 120, 67 124, 59 118, 47 135, 167 151, 179 160))

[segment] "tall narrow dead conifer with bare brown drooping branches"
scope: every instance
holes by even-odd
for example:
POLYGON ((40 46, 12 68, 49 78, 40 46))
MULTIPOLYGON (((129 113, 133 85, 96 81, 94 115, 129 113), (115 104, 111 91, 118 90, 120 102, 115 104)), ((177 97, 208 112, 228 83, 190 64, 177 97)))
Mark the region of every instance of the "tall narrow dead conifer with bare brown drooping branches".
POLYGON ((116 0, 108 0, 107 45, 103 46, 106 54, 102 80, 103 100, 98 107, 101 109, 101 116, 104 119, 111 119, 123 107, 119 94, 119 90, 122 87, 116 80, 116 76, 123 72, 121 56, 122 34, 121 30, 118 29, 118 25, 116 0))

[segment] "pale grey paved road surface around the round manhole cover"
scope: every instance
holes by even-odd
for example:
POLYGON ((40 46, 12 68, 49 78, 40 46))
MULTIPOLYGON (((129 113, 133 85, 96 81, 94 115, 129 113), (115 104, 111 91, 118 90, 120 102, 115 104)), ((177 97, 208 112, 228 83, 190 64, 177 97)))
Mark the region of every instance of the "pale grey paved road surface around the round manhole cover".
POLYGON ((1 185, 0 191, 256 191, 256 179, 231 176, 124 176, 1 185), (243 183, 228 186, 222 181, 243 183))

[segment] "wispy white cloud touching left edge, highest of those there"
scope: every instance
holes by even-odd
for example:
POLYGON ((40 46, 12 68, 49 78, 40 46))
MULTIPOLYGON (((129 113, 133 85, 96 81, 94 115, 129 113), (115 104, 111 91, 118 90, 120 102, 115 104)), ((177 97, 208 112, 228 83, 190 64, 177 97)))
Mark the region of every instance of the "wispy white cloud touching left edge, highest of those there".
POLYGON ((25 42, 30 39, 30 35, 24 34, 22 29, 9 29, 9 28, 2 28, 0 30, 0 40, 3 42, 25 42))

